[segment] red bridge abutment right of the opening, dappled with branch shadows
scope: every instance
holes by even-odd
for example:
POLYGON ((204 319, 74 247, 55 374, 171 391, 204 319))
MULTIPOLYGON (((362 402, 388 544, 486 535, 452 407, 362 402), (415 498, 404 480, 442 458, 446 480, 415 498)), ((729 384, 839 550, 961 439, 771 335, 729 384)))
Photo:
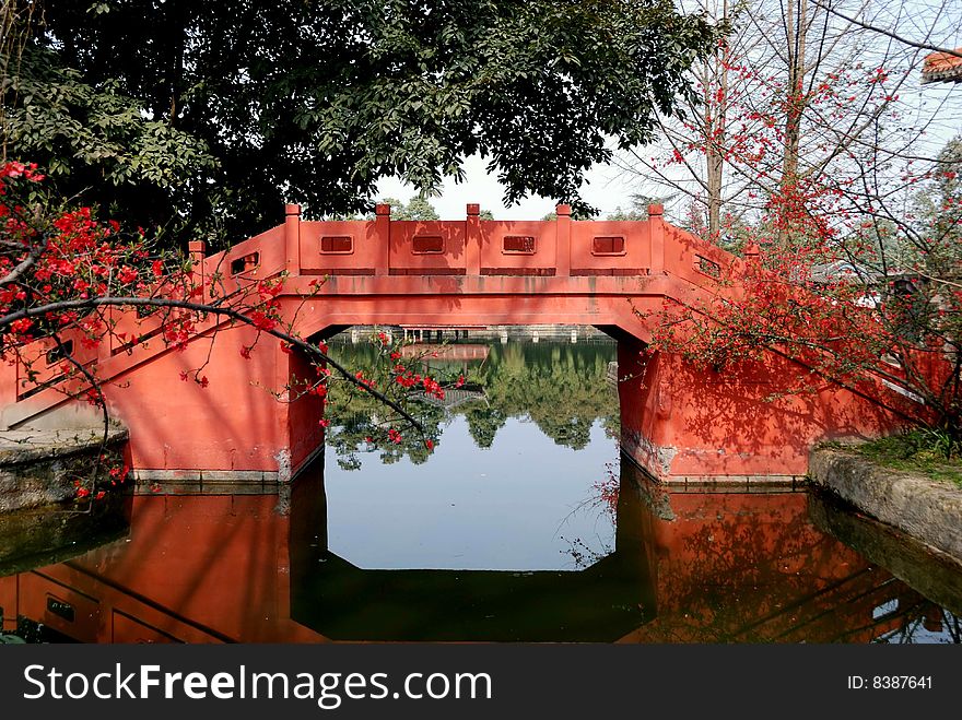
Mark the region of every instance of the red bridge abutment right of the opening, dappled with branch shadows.
POLYGON ((824 440, 891 433, 891 410, 774 353, 715 370, 621 340, 622 449, 664 483, 799 482, 824 440))

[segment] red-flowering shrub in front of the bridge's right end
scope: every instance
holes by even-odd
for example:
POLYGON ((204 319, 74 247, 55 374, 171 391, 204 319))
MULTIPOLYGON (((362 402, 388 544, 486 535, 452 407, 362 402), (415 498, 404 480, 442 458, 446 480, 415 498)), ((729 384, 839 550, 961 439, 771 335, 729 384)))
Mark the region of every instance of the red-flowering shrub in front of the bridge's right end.
MULTIPOLYGON (((716 370, 776 352, 880 402, 898 388, 912 399, 898 403, 900 413, 962 432, 962 285, 953 275, 919 264, 873 272, 824 235, 797 247, 748 250, 720 269, 711 299, 666 302, 649 314, 657 316, 653 350, 716 370)), ((808 373, 784 391, 811 389, 808 373)))

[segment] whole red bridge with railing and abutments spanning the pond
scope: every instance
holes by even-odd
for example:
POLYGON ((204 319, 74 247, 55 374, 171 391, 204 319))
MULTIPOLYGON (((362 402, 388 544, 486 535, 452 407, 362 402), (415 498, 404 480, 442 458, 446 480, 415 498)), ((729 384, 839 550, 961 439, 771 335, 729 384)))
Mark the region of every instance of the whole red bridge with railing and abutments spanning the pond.
MULTIPOLYGON (((391 221, 388 205, 371 221, 306 222, 288 205, 283 225, 210 257, 191 244, 191 253, 195 273, 219 273, 228 290, 286 272, 282 311, 303 338, 353 324, 598 327, 619 341, 622 448, 666 481, 794 480, 805 474, 812 444, 899 422, 877 402, 813 376, 810 392, 777 397, 808 369, 775 353, 722 374, 647 353, 666 298, 691 303, 732 292, 717 279, 728 270, 737 276, 742 262, 665 223, 660 205, 644 222, 572 221, 566 205, 553 221, 485 221, 476 204, 456 222, 391 221)), ((157 320, 132 311, 115 319, 118 334, 160 333, 151 324, 157 320)), ((211 319, 181 352, 161 338, 146 347, 112 338, 77 351, 96 364, 112 412, 130 429, 139 479, 200 483, 203 492, 237 482, 266 486, 290 480, 318 450, 319 400, 278 402, 270 392, 305 377, 306 358, 282 352, 272 338, 243 358, 237 349, 255 332, 211 319), (210 387, 178 381, 200 366, 210 368, 210 387)), ((40 343, 36 353, 48 350, 40 343)), ((5 368, 0 391, 4 427, 82 420, 84 403, 37 390, 20 365, 5 368)))

